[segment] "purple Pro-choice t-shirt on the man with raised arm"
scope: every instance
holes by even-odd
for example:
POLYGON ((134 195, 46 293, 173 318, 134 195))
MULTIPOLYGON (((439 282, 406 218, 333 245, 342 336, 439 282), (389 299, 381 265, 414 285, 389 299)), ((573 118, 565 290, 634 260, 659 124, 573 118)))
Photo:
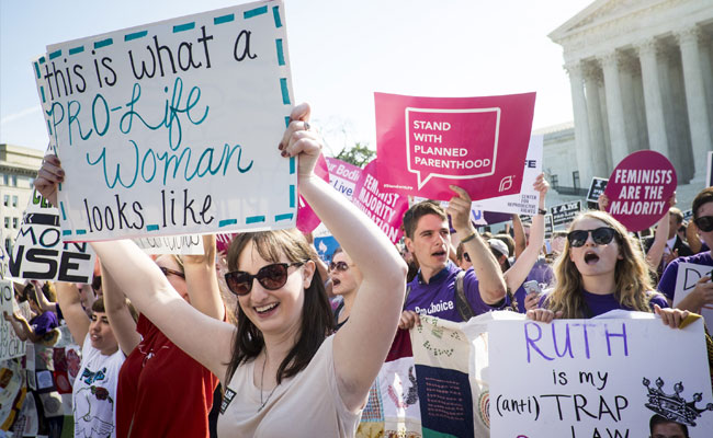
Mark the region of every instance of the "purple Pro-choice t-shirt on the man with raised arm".
MULTIPOLYGON (((443 320, 462 322, 463 319, 455 307, 455 277, 459 272, 461 269, 449 261, 443 270, 431 277, 428 285, 423 283, 419 272, 416 278, 408 284, 411 291, 408 295, 404 310, 412 310, 417 313, 443 320)), ((491 307, 483 301, 478 289, 478 280, 475 278, 473 268, 465 272, 463 292, 476 315, 502 309, 505 306, 491 307)))

